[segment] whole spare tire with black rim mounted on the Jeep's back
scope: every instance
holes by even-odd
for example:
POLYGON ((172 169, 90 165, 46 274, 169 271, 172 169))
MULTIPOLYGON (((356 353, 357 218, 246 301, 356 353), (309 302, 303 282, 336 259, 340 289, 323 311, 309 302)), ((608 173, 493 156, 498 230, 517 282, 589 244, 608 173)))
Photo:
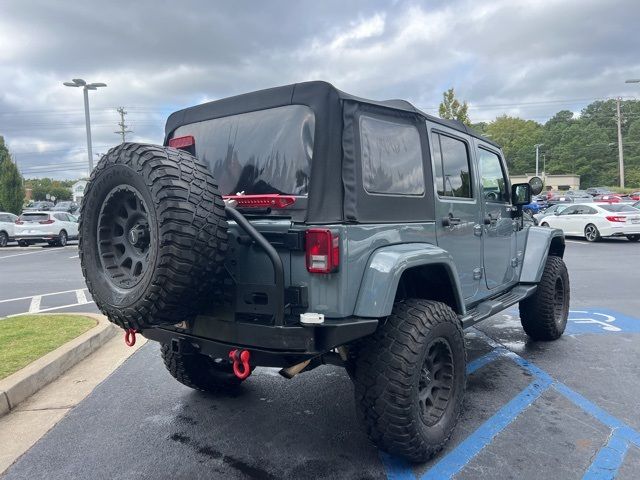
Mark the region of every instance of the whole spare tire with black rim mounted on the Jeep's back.
POLYGON ((227 247, 207 167, 173 148, 124 143, 102 157, 80 212, 78 250, 96 305, 138 330, 194 316, 227 247))

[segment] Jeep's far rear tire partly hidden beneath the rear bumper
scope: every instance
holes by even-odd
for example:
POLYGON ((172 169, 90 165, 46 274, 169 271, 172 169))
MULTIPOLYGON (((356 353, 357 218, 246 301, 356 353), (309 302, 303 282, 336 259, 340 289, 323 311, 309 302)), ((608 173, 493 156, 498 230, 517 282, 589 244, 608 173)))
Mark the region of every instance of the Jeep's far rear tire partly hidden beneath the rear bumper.
POLYGON ((233 374, 233 367, 226 360, 214 360, 199 353, 172 352, 167 344, 162 345, 160 352, 171 376, 195 390, 215 392, 233 389, 243 382, 233 374))

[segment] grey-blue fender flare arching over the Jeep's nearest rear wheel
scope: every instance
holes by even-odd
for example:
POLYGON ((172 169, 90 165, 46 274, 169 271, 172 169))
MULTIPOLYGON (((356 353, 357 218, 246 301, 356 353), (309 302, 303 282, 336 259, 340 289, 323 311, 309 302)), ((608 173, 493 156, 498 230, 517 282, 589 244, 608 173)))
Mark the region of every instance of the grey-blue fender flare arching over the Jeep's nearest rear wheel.
POLYGON ((378 248, 369 257, 358 291, 354 315, 381 318, 391 314, 402 274, 414 267, 441 266, 454 289, 456 312, 465 314, 458 272, 451 255, 429 243, 405 243, 378 248))

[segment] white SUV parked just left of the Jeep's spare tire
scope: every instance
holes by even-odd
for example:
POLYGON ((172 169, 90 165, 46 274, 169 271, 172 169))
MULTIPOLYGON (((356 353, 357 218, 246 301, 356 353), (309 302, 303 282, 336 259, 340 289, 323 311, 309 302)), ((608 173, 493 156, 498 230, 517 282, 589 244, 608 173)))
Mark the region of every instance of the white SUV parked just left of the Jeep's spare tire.
POLYGON ((15 223, 15 239, 26 247, 34 243, 64 247, 78 238, 78 221, 66 212, 24 212, 15 223))

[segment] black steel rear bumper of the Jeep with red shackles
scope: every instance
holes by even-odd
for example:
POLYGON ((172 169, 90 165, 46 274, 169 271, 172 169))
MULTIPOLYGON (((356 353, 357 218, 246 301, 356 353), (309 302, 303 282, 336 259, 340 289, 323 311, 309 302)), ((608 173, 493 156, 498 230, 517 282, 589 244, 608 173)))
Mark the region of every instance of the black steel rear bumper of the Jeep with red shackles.
POLYGON ((371 335, 378 327, 377 319, 354 317, 326 319, 323 324, 313 326, 267 326, 211 318, 207 322, 212 322, 207 327, 216 332, 216 338, 168 327, 141 333, 149 340, 171 345, 174 351, 227 358, 231 350, 240 348, 251 352, 252 365, 288 367, 371 335))

